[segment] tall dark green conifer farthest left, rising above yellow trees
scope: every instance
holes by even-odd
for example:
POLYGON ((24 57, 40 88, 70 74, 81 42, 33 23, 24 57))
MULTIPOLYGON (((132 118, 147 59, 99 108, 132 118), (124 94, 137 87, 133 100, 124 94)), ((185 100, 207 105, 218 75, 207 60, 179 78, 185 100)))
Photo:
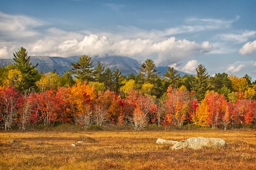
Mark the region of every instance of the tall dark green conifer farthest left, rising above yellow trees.
POLYGON ((38 76, 38 70, 36 70, 36 65, 32 65, 30 62, 30 56, 27 54, 27 50, 21 47, 18 52, 13 53, 15 61, 15 69, 22 73, 22 86, 20 86, 20 91, 31 91, 31 88, 35 86, 35 82, 40 79, 38 76))

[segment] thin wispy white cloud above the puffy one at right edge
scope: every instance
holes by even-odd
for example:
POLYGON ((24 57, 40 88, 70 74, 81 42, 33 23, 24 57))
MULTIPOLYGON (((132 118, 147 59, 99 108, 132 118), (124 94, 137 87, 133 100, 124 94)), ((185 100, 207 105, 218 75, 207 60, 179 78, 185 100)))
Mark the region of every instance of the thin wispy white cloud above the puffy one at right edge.
POLYGON ((240 34, 228 33, 221 34, 217 37, 223 39, 225 41, 234 41, 236 43, 242 43, 249 40, 250 37, 254 37, 256 35, 256 31, 245 31, 240 34))

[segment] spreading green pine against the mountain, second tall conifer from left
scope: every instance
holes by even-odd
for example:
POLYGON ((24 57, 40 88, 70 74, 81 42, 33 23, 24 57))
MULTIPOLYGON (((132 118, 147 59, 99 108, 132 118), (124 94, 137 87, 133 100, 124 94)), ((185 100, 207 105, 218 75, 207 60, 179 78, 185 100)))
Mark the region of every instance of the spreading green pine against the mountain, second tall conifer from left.
POLYGON ((79 61, 76 63, 71 63, 73 66, 71 68, 71 73, 75 74, 75 78, 84 82, 94 81, 94 66, 92 58, 86 55, 83 55, 79 58, 79 61))

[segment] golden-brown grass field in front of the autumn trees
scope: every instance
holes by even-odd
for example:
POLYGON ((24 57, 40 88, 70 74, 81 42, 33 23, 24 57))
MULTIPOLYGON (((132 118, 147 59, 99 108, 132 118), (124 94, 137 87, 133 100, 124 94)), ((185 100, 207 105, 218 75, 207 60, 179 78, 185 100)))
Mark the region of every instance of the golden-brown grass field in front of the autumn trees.
POLYGON ((256 169, 256 131, 0 131, 0 169, 256 169), (156 145, 190 137, 222 138, 228 147, 156 145))

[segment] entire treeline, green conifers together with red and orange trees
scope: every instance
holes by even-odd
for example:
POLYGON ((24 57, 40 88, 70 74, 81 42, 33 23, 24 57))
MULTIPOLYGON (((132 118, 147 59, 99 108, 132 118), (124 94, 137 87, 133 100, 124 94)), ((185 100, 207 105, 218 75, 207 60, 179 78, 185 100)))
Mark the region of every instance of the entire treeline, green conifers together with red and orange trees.
POLYGON ((13 65, 0 68, 0 125, 5 130, 39 124, 226 129, 256 123, 256 86, 249 75, 209 76, 199 65, 196 76, 181 77, 168 67, 162 78, 154 61, 146 59, 138 75, 126 77, 100 62, 94 65, 89 56, 71 63, 63 75, 43 74, 26 49, 20 48, 13 59, 13 65))

